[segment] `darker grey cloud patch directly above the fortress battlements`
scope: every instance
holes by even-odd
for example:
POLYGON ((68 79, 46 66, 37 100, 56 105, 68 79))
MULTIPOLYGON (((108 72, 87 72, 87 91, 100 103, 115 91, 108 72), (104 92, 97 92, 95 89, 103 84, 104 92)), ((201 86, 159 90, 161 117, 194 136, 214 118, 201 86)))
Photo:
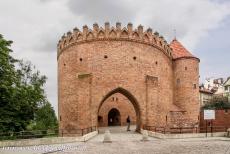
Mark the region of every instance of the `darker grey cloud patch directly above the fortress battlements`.
POLYGON ((91 22, 131 21, 135 17, 132 3, 122 0, 69 0, 70 10, 91 22))

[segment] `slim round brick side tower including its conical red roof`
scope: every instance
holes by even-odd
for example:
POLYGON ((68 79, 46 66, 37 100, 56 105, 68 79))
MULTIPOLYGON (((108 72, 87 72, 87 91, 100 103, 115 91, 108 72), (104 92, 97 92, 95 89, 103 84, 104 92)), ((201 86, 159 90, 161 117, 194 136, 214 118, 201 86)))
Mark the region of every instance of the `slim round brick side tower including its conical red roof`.
POLYGON ((172 125, 198 125, 200 60, 176 39, 170 47, 173 50, 174 104, 181 109, 181 112, 171 112, 171 117, 176 120, 172 125))

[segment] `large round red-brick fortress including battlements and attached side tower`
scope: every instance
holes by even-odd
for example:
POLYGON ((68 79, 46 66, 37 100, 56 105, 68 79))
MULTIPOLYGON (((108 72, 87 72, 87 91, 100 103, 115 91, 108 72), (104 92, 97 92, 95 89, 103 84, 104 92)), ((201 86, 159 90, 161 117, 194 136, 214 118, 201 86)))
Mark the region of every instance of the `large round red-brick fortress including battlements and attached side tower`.
POLYGON ((59 129, 66 136, 125 125, 127 116, 137 130, 198 123, 199 59, 176 39, 168 44, 141 25, 94 24, 63 35, 57 55, 59 129))

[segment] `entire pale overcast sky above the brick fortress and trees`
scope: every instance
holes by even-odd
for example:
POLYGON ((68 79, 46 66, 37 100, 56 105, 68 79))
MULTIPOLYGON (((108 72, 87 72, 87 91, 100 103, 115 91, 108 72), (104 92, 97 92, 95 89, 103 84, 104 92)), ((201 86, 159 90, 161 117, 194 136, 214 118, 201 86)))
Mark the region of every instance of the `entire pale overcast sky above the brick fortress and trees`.
POLYGON ((57 111, 59 38, 74 27, 132 22, 174 37, 200 58, 201 81, 230 76, 229 0, 0 0, 0 33, 14 56, 48 77, 46 92, 57 111))

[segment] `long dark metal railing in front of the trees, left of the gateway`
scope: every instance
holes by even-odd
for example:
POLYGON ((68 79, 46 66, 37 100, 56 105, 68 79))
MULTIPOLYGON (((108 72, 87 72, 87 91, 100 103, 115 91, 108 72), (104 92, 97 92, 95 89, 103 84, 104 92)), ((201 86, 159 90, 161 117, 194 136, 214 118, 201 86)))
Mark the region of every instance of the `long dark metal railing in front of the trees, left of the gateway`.
POLYGON ((20 132, 0 132, 0 140, 30 139, 54 136, 83 136, 96 130, 97 127, 92 126, 82 129, 49 129, 20 132))

